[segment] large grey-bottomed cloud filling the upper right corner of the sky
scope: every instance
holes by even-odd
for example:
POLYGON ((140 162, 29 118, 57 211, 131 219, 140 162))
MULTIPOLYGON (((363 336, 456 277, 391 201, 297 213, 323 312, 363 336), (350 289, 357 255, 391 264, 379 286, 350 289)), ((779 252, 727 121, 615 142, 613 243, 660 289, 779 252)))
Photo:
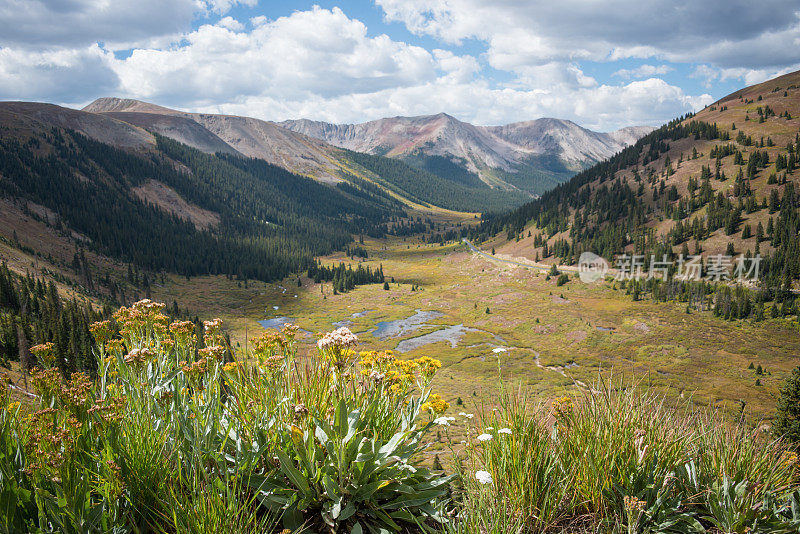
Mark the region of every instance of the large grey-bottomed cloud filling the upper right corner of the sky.
POLYGON ((663 57, 724 67, 800 60, 800 8, 749 0, 375 0, 390 21, 448 42, 488 43, 494 66, 663 57))

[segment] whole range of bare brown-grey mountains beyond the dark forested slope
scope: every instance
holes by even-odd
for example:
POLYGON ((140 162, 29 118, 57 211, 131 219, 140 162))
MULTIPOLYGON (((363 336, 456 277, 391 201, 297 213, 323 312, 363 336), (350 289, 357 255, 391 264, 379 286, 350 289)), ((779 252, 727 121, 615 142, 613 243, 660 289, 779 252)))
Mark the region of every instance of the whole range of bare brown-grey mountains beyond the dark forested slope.
POLYGON ((337 148, 343 148, 401 159, 448 179, 480 181, 529 194, 541 194, 652 130, 637 126, 599 133, 559 119, 475 126, 445 113, 363 124, 307 119, 275 123, 187 113, 120 98, 97 99, 83 111, 110 116, 205 152, 256 157, 323 181, 342 178, 348 165, 337 148))

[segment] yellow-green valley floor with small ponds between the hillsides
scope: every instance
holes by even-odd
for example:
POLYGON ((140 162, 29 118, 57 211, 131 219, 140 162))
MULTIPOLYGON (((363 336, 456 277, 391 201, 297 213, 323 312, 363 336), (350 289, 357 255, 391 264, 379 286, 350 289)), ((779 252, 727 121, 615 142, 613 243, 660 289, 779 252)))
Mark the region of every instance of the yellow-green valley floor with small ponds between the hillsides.
MULTIPOLYGON (((590 387, 602 376, 652 385, 730 416, 743 401, 758 424, 772 417, 783 380, 800 363, 800 326, 793 321, 752 324, 687 314, 680 303, 633 302, 613 282, 587 285, 572 276, 558 287, 545 272, 495 261, 463 243, 440 247, 409 239, 366 246, 366 263, 383 265, 387 279, 395 279, 389 290, 374 284, 333 295, 330 284, 305 277, 302 287, 289 279, 247 288, 205 277, 173 278, 154 286, 153 297, 177 299, 201 317, 222 317, 240 346, 261 331, 258 321, 286 317, 306 331, 303 350, 314 349, 314 334, 348 326, 364 349, 436 357, 444 367, 435 389, 456 411, 492 403, 498 372, 504 384, 530 388, 542 400, 590 387), (748 369, 751 362, 764 374, 748 369)), ((323 260, 339 261, 351 262, 323 260)))

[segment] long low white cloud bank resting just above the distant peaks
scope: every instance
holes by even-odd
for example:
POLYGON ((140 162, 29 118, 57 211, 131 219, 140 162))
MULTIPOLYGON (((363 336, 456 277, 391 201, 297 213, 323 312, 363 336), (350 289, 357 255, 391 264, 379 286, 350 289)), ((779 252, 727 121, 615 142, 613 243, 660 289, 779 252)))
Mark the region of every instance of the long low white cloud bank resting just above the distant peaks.
POLYGON ((459 83, 445 76, 414 86, 332 98, 310 95, 303 99, 285 100, 256 95, 236 103, 201 107, 198 111, 253 115, 273 120, 308 117, 341 123, 441 111, 461 120, 487 125, 549 116, 606 131, 631 124, 659 125, 664 117, 676 117, 700 109, 713 100, 710 95, 686 95, 679 87, 658 79, 622 86, 542 91, 492 88, 485 81, 459 83))

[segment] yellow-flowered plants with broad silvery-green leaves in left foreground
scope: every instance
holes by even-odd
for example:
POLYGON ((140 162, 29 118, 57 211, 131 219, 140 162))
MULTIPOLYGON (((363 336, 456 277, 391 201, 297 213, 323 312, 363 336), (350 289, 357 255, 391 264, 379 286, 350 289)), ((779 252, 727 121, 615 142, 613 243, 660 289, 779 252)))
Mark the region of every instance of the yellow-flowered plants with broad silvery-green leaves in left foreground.
MULTIPOLYGON (((393 533, 444 521, 449 478, 418 465, 441 365, 356 353, 346 329, 295 357, 296 329, 231 359, 141 301, 92 325, 98 379, 31 350, 38 409, 0 390, 0 532, 393 533), (200 348, 202 347, 202 348, 200 348), (360 358, 360 359, 359 359, 360 358), (356 361, 359 359, 359 361, 356 361)), ((428 527, 425 527, 428 528, 428 527)))

